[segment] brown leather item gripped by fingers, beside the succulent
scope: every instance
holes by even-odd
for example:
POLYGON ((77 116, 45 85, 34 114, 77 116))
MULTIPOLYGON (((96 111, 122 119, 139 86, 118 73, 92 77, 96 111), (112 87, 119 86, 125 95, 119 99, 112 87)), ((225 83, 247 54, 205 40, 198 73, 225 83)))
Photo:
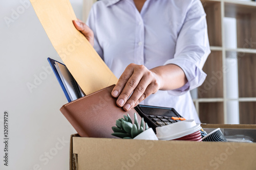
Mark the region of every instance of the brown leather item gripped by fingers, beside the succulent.
POLYGON ((112 126, 127 113, 133 121, 136 113, 140 122, 141 117, 135 109, 125 112, 116 105, 116 98, 111 95, 114 86, 86 95, 60 108, 61 113, 81 137, 116 138, 111 135, 112 126))

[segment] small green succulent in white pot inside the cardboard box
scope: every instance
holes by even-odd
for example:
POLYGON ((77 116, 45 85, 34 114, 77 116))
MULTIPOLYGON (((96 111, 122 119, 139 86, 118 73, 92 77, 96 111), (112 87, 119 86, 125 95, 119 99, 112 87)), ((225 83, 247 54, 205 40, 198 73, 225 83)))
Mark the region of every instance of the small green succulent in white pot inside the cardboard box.
POLYGON ((141 119, 139 125, 136 113, 134 113, 134 124, 129 114, 116 120, 116 127, 113 126, 113 136, 123 139, 146 139, 146 140, 158 140, 155 132, 152 128, 148 128, 147 124, 144 127, 144 119, 141 119))

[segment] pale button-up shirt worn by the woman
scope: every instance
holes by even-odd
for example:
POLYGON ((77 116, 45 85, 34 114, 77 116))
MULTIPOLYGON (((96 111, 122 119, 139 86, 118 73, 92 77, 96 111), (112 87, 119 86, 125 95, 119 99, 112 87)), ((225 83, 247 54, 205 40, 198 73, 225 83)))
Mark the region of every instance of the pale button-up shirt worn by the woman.
POLYGON ((102 0, 93 5, 87 25, 94 32, 95 50, 117 78, 130 63, 148 69, 165 64, 181 67, 187 84, 159 90, 141 104, 172 107, 186 119, 200 122, 188 92, 205 80, 202 67, 210 53, 199 0, 147 0, 140 13, 133 0, 102 0))

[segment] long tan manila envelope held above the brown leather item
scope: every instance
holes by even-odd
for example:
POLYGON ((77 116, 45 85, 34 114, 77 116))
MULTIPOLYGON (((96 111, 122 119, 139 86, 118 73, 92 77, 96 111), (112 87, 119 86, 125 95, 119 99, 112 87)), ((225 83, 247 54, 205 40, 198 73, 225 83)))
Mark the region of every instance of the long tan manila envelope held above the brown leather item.
POLYGON ((69 0, 30 0, 52 45, 84 93, 91 94, 117 83, 89 41, 76 30, 69 0))

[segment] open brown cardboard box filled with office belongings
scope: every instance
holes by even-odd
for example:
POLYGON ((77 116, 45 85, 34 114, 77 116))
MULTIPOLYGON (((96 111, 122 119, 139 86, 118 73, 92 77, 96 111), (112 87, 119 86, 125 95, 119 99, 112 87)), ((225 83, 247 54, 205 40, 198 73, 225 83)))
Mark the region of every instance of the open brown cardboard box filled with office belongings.
MULTIPOLYGON (((202 127, 256 131, 256 125, 202 127)), ((256 169, 256 143, 87 138, 74 134, 70 169, 256 169)))

